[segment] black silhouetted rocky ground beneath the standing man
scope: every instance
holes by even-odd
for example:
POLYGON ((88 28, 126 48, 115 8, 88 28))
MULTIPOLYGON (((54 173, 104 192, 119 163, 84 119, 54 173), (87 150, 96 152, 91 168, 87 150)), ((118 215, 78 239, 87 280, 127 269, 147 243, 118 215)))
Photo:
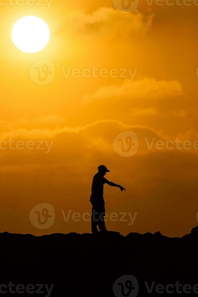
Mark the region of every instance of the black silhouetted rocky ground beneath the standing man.
POLYGON ((0 233, 0 252, 1 284, 54 284, 51 296, 56 297, 111 297, 113 284, 122 275, 137 278, 137 296, 159 296, 145 291, 145 281, 149 286, 154 281, 164 286, 177 281, 183 285, 198 284, 198 226, 182 238, 168 238, 160 232, 41 237, 4 232, 0 233))

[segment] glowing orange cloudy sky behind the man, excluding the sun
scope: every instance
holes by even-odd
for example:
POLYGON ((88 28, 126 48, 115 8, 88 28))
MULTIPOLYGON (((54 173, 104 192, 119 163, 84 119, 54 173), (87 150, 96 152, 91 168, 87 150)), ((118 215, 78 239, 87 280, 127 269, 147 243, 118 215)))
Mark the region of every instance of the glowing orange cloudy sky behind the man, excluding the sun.
POLYGON ((54 141, 48 154, 0 149, 1 232, 91 232, 90 222, 64 222, 61 209, 91 211, 91 182, 101 164, 111 170, 107 179, 127 189, 104 186, 106 212, 137 213, 133 225, 108 220, 108 230, 182 236, 197 225, 197 150, 149 150, 144 140, 198 139, 198 6, 172 2, 141 1, 134 12, 121 13, 110 0, 56 0, 50 7, 44 0, 44 6, 1 1, 0 140, 54 141), (51 31, 35 54, 21 52, 11 38, 12 26, 26 15, 42 18, 51 31), (42 59, 55 66, 47 85, 31 80, 31 65, 42 59), (65 77, 70 65, 71 71, 95 66, 108 74, 65 77), (118 74, 130 69, 134 79, 129 71, 111 77, 113 68, 118 74), (113 148, 124 131, 139 139, 137 154, 128 158, 113 148), (29 220, 40 203, 55 209, 48 229, 29 220))

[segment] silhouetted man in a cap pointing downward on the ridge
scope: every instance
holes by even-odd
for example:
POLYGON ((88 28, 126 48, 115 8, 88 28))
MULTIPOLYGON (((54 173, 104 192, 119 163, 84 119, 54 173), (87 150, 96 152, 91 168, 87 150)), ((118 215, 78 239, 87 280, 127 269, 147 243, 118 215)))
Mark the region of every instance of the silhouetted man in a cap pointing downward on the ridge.
MULTIPOLYGON (((104 178, 106 172, 110 172, 106 166, 100 165, 98 167, 98 172, 94 175, 92 187, 91 187, 91 197, 90 201, 92 204, 92 213, 91 213, 91 231, 92 233, 97 233, 97 225, 101 232, 106 232, 104 216, 104 198, 103 198, 103 185, 111 185, 112 187, 118 187, 121 191, 125 190, 120 185, 116 185, 113 182, 109 182, 104 178)), ((126 190, 125 190, 126 191, 126 190)))

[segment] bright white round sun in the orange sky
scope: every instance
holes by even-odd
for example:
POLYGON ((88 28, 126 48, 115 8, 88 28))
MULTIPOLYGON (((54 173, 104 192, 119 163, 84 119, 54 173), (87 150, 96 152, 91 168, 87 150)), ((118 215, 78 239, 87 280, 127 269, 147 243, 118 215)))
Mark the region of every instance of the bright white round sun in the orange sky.
POLYGON ((35 53, 48 44, 48 25, 36 16, 20 18, 12 28, 12 40, 22 52, 35 53))

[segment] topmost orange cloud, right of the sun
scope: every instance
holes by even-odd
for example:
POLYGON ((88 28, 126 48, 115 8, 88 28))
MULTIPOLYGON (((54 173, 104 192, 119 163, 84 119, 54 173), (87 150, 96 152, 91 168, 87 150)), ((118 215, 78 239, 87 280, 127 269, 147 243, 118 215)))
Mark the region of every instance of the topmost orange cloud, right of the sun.
POLYGON ((101 7, 92 14, 83 11, 70 12, 66 18, 68 29, 87 33, 101 33, 107 38, 112 36, 127 37, 132 33, 145 33, 153 22, 154 14, 143 15, 136 11, 133 14, 122 14, 113 8, 101 7))

